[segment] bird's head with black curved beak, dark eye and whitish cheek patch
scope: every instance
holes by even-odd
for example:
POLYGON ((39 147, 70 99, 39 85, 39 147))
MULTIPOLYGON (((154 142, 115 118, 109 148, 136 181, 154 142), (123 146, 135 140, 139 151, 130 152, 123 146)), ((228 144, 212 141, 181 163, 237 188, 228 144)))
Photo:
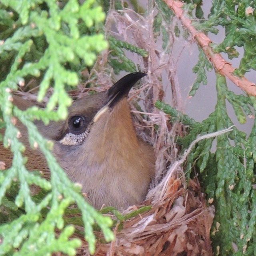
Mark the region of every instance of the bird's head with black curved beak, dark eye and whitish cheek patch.
POLYGON ((72 147, 83 144, 95 129, 97 131, 94 134, 98 134, 95 136, 102 136, 104 132, 111 132, 116 128, 115 125, 110 127, 108 124, 108 129, 104 129, 110 116, 119 116, 120 121, 125 125, 127 116, 124 110, 128 106, 127 95, 132 86, 145 75, 141 72, 128 74, 104 92, 75 100, 68 110, 68 118, 65 121, 51 122, 49 126, 38 123, 40 132, 62 146, 72 147), (116 112, 119 114, 116 115, 116 112))

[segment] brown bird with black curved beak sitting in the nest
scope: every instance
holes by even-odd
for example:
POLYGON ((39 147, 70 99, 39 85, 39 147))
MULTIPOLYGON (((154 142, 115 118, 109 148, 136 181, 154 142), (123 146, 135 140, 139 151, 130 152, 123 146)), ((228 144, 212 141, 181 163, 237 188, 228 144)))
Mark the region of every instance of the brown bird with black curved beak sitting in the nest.
MULTIPOLYGON (((130 73, 108 90, 74 100, 66 120, 48 125, 34 121, 39 132, 53 142, 52 153, 60 166, 72 182, 82 185, 82 192, 96 209, 126 209, 143 202, 154 176, 154 148, 136 134, 127 98, 145 75, 130 73)), ((14 96, 13 103, 22 110, 33 105, 20 96, 14 96)), ((30 148, 26 127, 20 122, 16 126, 26 146, 26 167, 42 170, 49 178, 44 155, 30 148)), ((12 163, 10 149, 2 142, 0 161, 6 168, 12 163)))

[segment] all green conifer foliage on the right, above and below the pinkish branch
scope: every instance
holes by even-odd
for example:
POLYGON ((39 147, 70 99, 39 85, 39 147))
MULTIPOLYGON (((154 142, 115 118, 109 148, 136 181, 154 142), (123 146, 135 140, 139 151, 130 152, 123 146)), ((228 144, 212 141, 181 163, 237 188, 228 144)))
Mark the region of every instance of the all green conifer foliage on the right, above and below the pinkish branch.
MULTIPOLYGON (((244 50, 240 65, 234 71, 237 76, 255 70, 256 3, 250 0, 214 0, 208 18, 205 19, 199 7, 204 1, 187 0, 184 9, 193 20, 198 31, 218 34, 217 26, 225 29, 225 37, 220 44, 212 44, 216 53, 226 53, 228 58, 237 58, 238 47, 244 50), (198 10, 197 10, 198 9, 198 10), (193 12, 196 10, 196 12, 193 12)), ((207 72, 212 66, 204 52, 199 50, 198 63, 194 66, 196 80, 190 90, 194 96, 201 84, 207 84, 207 72)), ((254 96, 235 94, 226 85, 226 78, 216 72, 217 103, 214 112, 202 122, 196 122, 171 106, 156 102, 156 107, 170 115, 170 122, 181 122, 188 135, 178 138, 183 150, 198 136, 228 128, 233 124, 227 114, 227 101, 232 105, 240 124, 246 123, 248 116, 255 116, 254 96)), ((254 81, 252 81, 254 82, 254 81)), ((191 177, 196 168, 208 199, 213 199, 215 218, 212 227, 213 249, 216 255, 254 255, 256 234, 256 192, 255 192, 255 140, 256 123, 251 133, 246 135, 234 126, 232 132, 216 138, 216 150, 211 151, 214 139, 202 140, 194 147, 186 162, 185 173, 191 177)), ((211 201, 211 200, 210 200, 211 201)))

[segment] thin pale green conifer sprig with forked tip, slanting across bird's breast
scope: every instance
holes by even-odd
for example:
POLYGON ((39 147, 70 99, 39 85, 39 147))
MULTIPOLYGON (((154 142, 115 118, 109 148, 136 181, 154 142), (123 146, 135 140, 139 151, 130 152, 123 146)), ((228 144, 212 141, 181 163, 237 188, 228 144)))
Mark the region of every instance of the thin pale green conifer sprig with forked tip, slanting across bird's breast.
MULTIPOLYGON (((15 108, 14 114, 20 119, 20 121, 28 128, 28 134, 32 141, 37 142, 40 150, 46 157, 46 161, 51 170, 51 185, 54 192, 54 198, 58 198, 64 195, 66 198, 71 198, 72 201, 76 202, 78 208, 82 212, 82 219, 85 226, 85 239, 88 241, 89 250, 91 253, 95 251, 96 239, 93 233, 92 224, 94 221, 100 226, 105 236, 106 241, 114 239, 113 233, 109 229, 112 226, 112 220, 108 217, 102 216, 96 211, 88 202, 85 201, 83 196, 80 194, 80 186, 74 185, 69 179, 66 173, 60 168, 56 159, 52 156, 47 146, 48 141, 40 135, 37 131, 35 124, 27 120, 24 112, 15 108)), ((56 200, 55 202, 56 203, 56 200)), ((52 207, 53 208, 53 207, 52 207)))

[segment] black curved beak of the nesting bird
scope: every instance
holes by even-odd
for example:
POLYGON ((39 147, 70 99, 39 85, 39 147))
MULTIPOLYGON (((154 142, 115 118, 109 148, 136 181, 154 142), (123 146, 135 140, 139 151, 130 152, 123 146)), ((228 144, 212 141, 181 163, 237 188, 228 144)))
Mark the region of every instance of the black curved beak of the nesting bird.
POLYGON ((147 74, 134 72, 122 77, 108 89, 108 106, 112 108, 119 100, 126 97, 134 84, 147 74))

